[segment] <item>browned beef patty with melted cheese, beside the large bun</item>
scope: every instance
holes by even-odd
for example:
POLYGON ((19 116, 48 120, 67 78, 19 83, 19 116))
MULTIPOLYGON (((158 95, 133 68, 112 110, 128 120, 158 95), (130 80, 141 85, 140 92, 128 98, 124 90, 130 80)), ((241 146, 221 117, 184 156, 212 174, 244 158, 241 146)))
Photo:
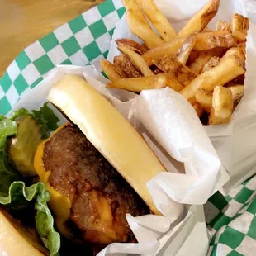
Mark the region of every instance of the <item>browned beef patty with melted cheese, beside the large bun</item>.
POLYGON ((64 126, 45 143, 50 184, 72 201, 70 220, 92 243, 130 240, 126 213, 149 213, 145 202, 77 126, 64 126))

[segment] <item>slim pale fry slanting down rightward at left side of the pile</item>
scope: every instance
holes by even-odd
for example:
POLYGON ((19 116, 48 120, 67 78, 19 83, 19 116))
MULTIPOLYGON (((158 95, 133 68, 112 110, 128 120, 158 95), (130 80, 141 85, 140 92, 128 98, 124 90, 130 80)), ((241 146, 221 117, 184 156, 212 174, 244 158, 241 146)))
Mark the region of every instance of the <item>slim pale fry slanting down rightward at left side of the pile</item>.
POLYGON ((118 44, 118 50, 121 51, 122 54, 126 54, 131 63, 135 65, 137 69, 140 70, 140 72, 146 77, 150 75, 154 75, 154 73, 149 69, 148 64, 146 64, 145 60, 135 53, 135 51, 131 50, 129 47, 126 45, 122 45, 121 43, 118 44))

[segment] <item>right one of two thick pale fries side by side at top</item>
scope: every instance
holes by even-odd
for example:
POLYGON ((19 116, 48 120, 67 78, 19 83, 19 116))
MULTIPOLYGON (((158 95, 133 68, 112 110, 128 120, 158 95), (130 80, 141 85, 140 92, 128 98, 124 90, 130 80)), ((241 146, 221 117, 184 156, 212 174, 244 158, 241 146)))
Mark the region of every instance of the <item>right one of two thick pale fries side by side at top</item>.
POLYGON ((152 23, 154 28, 159 31, 160 36, 165 41, 173 40, 176 36, 176 32, 173 26, 168 22, 164 14, 159 11, 153 0, 136 0, 140 8, 145 12, 146 17, 152 23))

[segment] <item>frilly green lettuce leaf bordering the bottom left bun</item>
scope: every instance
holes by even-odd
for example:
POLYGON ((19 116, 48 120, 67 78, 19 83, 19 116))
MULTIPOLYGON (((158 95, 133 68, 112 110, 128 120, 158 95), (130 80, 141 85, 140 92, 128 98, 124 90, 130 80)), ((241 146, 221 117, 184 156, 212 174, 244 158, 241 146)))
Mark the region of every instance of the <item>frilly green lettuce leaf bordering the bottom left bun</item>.
POLYGON ((0 197, 0 204, 23 204, 24 199, 26 201, 36 200, 36 229, 45 247, 49 249, 50 255, 58 255, 60 235, 55 231, 54 218, 47 205, 50 201, 50 193, 46 190, 45 183, 36 183, 31 187, 26 187, 23 182, 14 182, 9 187, 7 197, 0 197))

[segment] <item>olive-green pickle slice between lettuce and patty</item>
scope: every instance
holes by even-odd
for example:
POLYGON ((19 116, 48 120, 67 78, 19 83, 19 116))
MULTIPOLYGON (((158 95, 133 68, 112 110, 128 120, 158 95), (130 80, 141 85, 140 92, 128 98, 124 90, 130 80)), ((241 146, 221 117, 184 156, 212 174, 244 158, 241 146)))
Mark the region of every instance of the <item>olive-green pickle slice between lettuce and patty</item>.
POLYGON ((31 116, 17 121, 17 135, 8 141, 8 154, 23 176, 35 176, 34 155, 41 142, 40 126, 31 116))

